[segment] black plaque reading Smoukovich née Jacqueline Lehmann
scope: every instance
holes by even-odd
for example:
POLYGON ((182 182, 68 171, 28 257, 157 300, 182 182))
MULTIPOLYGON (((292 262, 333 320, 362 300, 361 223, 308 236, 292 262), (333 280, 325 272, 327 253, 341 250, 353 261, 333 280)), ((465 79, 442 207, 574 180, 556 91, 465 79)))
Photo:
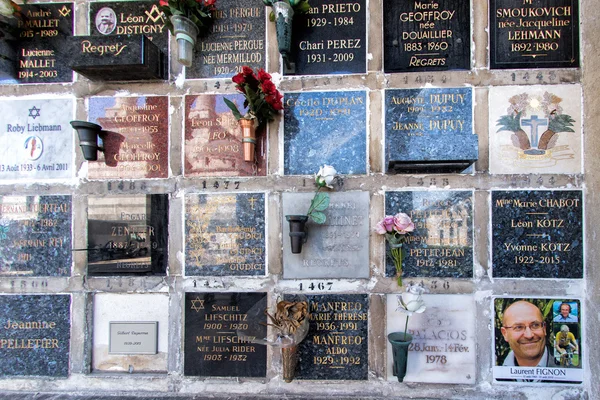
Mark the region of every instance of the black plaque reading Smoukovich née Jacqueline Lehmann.
POLYGON ((490 0, 490 67, 579 67, 577 0, 490 0))

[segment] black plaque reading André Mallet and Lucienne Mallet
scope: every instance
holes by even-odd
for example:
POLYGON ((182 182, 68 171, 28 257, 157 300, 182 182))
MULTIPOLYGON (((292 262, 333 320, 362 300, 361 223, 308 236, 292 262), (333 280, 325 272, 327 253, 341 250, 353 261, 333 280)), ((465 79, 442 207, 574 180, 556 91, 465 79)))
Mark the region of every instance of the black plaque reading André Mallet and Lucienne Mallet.
POLYGON ((17 82, 73 81, 73 71, 67 65, 73 3, 25 4, 21 8, 25 18, 19 23, 17 82))

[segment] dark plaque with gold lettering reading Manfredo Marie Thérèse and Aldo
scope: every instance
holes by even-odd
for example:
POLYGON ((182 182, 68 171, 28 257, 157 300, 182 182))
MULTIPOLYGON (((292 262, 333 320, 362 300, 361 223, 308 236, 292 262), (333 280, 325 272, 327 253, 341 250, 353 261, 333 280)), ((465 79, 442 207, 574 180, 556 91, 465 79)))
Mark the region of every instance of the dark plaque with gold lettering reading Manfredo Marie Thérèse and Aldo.
POLYGON ((368 315, 366 294, 306 296, 310 327, 298 346, 298 379, 366 380, 368 315))

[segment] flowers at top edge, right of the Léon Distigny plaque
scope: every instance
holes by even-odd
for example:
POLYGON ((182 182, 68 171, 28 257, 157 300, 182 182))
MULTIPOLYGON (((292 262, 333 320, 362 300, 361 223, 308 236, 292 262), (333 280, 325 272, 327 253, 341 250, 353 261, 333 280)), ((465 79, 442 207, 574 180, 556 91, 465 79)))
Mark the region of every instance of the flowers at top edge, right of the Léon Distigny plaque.
POLYGON ((160 10, 165 14, 165 25, 173 32, 171 16, 181 15, 198 27, 200 35, 206 34, 214 22, 216 0, 160 0, 160 10))

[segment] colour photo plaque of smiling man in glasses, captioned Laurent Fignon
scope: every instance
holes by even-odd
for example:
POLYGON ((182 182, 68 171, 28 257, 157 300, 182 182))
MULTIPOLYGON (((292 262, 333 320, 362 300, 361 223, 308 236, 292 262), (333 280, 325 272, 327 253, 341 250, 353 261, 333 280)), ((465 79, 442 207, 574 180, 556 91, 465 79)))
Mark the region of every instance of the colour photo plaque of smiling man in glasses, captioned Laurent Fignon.
POLYGON ((497 297, 492 308, 496 381, 583 381, 578 299, 497 297))

